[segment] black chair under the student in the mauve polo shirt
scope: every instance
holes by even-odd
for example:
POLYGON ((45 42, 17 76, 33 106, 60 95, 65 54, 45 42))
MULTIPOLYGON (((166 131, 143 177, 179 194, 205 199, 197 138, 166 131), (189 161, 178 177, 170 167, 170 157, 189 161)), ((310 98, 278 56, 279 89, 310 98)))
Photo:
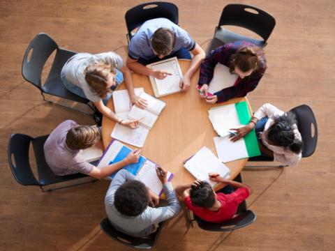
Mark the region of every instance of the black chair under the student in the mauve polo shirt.
MULTIPOLYGON (((20 183, 21 185, 38 185, 43 192, 50 192, 52 190, 58 190, 61 188, 69 188, 74 185, 66 185, 61 188, 54 188, 49 190, 44 190, 43 186, 54 183, 61 183, 64 181, 72 181, 77 178, 88 177, 84 174, 71 174, 66 176, 55 175, 54 172, 52 172, 52 169, 50 169, 50 167, 47 165, 47 162, 45 162, 43 146, 47 137, 48 135, 30 137, 29 135, 19 133, 10 135, 8 143, 8 162, 17 183, 20 183), (34 176, 29 162, 30 144, 32 144, 34 149, 36 166, 38 170, 38 179, 36 179, 34 176)), ((90 183, 94 181, 87 181, 84 183, 90 183)), ((84 183, 75 185, 81 185, 84 183)))

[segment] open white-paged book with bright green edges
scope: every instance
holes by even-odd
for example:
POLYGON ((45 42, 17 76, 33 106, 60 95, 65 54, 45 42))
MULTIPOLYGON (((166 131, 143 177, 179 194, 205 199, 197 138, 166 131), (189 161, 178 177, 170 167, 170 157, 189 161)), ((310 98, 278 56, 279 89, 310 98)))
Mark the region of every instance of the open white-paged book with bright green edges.
POLYGON ((255 129, 237 142, 230 141, 229 135, 234 132, 230 129, 241 128, 250 119, 251 115, 246 101, 209 109, 209 120, 219 136, 214 137, 216 153, 222 162, 260 155, 255 129))

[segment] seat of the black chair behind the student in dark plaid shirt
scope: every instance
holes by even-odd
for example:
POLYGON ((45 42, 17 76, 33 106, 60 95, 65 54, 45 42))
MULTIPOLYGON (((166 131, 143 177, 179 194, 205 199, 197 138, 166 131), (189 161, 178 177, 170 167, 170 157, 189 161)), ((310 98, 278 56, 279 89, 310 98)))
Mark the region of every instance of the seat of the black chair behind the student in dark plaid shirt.
MULTIPOLYGON (((221 45, 225 45, 226 43, 232 43, 235 41, 248 41, 258 45, 259 47, 264 47, 264 40, 258 40, 253 38, 248 38, 246 36, 241 36, 237 33, 229 31, 228 29, 224 29, 219 27, 216 30, 213 40, 211 40, 211 45, 209 46, 209 50, 207 52, 211 52, 211 50, 215 50, 217 47, 221 45)), ((208 53, 207 53, 208 54, 208 53)))

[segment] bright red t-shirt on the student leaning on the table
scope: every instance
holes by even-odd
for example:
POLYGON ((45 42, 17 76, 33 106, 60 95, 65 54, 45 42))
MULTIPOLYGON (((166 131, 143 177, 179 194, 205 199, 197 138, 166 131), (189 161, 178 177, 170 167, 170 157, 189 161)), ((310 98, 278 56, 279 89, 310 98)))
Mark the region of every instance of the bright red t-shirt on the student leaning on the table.
POLYGON ((249 191, 247 188, 238 188, 229 195, 225 195, 222 192, 216 195, 218 197, 217 199, 221 202, 221 208, 216 212, 210 211, 208 208, 193 206, 189 196, 184 199, 184 202, 186 206, 192 210, 195 215, 202 218, 202 220, 208 222, 224 222, 234 216, 239 204, 249 197, 249 191))

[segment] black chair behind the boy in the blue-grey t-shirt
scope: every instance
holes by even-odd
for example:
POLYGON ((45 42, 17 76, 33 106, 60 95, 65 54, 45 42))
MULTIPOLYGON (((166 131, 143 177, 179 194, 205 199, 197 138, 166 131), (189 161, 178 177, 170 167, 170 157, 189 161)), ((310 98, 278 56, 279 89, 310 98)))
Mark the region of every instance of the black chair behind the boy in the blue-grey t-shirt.
POLYGON ((127 40, 128 44, 133 38, 133 31, 140 27, 147 20, 158 17, 165 17, 174 24, 178 24, 178 7, 173 3, 167 2, 148 2, 142 3, 127 10, 124 18, 126 19, 126 26, 128 30, 127 40))

